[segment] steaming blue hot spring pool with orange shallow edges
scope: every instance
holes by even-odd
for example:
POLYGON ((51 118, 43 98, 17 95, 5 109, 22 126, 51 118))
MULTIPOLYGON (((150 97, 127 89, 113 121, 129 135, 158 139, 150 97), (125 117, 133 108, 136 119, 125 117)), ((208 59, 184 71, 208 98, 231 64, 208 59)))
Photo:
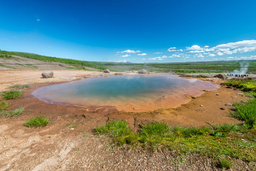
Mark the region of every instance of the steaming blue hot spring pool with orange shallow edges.
POLYGON ((89 110, 116 107, 124 111, 152 111, 188 103, 218 85, 177 75, 98 76, 36 89, 32 95, 47 103, 78 105, 89 110))

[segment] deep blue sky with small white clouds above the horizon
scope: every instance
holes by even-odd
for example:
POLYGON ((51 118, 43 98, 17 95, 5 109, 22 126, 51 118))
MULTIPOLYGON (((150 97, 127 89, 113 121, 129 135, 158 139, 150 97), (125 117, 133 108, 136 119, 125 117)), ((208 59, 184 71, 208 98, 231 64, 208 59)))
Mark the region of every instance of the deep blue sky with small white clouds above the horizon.
POLYGON ((256 59, 256 1, 1 1, 0 49, 132 63, 256 59))

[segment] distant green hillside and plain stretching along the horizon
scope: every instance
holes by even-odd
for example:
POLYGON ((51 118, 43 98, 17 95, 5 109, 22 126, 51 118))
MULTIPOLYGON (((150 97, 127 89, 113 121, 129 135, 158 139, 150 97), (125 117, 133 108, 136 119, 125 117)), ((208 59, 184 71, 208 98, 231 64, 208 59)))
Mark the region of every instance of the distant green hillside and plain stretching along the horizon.
POLYGON ((50 62, 60 62, 70 65, 96 68, 99 70, 109 69, 110 71, 136 71, 145 69, 151 72, 178 72, 178 73, 204 73, 204 72, 232 72, 240 70, 241 63, 248 63, 249 72, 256 74, 256 60, 235 60, 217 62, 180 62, 180 63, 115 63, 115 62, 88 62, 74 59, 63 59, 51 56, 43 56, 26 52, 1 51, 0 57, 12 58, 10 55, 22 56, 30 59, 37 59, 50 62))

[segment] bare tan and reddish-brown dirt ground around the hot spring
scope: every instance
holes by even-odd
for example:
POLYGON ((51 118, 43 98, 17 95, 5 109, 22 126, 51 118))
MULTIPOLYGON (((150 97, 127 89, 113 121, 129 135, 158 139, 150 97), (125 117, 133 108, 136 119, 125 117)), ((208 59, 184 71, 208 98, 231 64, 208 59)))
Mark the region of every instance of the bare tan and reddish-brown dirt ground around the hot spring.
MULTIPOLYGON (((9 109, 25 107, 23 115, 1 118, 0 170, 221 170, 214 163, 216 161, 196 154, 178 162, 181 158, 169 151, 151 153, 143 149, 117 149, 107 137, 97 137, 92 130, 114 119, 126 120, 134 131, 139 124, 152 120, 184 126, 239 123, 227 115, 230 107, 225 104, 247 98, 238 89, 221 86, 178 108, 133 113, 103 107, 90 112, 81 107, 44 103, 30 93, 41 86, 101 75, 101 72, 54 70, 54 78, 50 79, 42 79, 41 73, 40 70, 0 70, 0 91, 14 84, 32 85, 20 99, 8 101, 9 109), (23 126, 35 116, 46 116, 50 123, 43 128, 23 126)), ((223 82, 213 78, 201 80, 223 82)), ((251 168, 243 161, 237 163, 239 165, 231 170, 251 168)))

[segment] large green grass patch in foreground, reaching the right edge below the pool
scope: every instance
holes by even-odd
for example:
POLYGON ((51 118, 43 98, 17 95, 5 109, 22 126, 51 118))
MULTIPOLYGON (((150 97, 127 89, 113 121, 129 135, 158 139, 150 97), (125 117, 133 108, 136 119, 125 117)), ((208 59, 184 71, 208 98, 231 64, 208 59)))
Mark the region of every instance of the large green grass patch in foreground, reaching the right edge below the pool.
POLYGON ((96 135, 110 136, 118 145, 167 148, 181 156, 198 153, 211 158, 232 157, 244 161, 256 161, 256 149, 252 148, 256 145, 254 132, 254 129, 244 129, 238 125, 169 127, 166 123, 156 121, 141 125, 138 132, 132 132, 123 120, 111 121, 94 129, 96 135))

